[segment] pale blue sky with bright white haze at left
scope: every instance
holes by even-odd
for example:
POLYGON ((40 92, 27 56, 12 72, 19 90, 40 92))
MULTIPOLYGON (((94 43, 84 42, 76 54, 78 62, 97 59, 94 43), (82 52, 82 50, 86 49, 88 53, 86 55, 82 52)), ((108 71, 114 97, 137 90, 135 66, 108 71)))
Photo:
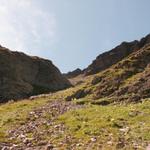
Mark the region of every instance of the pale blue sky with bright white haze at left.
POLYGON ((48 58, 62 71, 87 67, 122 41, 150 33, 149 0, 0 0, 0 44, 48 58))

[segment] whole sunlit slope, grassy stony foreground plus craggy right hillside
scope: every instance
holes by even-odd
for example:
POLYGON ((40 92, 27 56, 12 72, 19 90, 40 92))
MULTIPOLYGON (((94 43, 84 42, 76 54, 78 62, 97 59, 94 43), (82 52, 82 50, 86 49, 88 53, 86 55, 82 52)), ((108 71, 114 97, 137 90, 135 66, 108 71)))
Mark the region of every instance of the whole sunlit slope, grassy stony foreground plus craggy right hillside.
POLYGON ((143 41, 74 87, 0 105, 0 149, 149 149, 150 44, 143 41))

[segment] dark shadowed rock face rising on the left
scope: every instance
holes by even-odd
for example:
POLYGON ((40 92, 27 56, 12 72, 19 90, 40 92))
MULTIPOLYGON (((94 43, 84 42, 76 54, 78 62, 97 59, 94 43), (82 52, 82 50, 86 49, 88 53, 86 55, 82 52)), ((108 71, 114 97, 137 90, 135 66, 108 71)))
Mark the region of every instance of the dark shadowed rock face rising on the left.
POLYGON ((70 86, 51 61, 0 47, 0 102, 70 86))

